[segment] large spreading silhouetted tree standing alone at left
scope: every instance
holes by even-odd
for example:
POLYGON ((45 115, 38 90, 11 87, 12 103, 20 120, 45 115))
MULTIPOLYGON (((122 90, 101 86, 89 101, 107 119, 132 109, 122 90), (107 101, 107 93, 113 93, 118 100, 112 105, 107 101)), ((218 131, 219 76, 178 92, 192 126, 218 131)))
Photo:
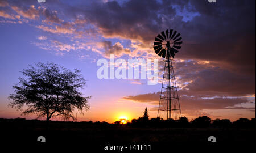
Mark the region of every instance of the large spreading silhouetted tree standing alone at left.
POLYGON ((88 99, 82 96, 79 88, 85 86, 86 81, 80 71, 70 71, 55 63, 35 63, 22 71, 24 77, 19 77, 19 83, 13 86, 15 94, 10 94, 10 107, 22 111, 22 114, 34 113, 39 117, 46 117, 47 124, 52 117, 61 116, 73 118, 72 111, 89 109, 88 99))

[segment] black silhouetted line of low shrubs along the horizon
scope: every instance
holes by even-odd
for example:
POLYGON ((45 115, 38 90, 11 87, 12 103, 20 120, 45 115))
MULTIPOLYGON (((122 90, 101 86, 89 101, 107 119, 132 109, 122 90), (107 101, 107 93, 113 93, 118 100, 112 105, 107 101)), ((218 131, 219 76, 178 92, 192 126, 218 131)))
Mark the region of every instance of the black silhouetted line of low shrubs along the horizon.
MULTIPOLYGON (((120 122, 108 123, 105 121, 50 121, 54 123, 52 126, 53 128, 90 128, 90 127, 97 127, 98 128, 111 128, 111 127, 129 127, 129 128, 255 128, 255 118, 251 118, 251 120, 247 118, 239 118, 238 120, 231 122, 228 119, 219 119, 211 120, 208 116, 199 116, 194 120, 188 121, 187 117, 180 117, 179 120, 163 120, 163 118, 143 118, 139 117, 138 119, 133 119, 131 122, 127 122, 127 124, 120 124, 120 122)), ((0 118, 1 124, 28 124, 30 128, 40 127, 39 125, 46 124, 46 121, 42 120, 26 120, 26 118, 15 118, 15 119, 5 119, 0 118)))

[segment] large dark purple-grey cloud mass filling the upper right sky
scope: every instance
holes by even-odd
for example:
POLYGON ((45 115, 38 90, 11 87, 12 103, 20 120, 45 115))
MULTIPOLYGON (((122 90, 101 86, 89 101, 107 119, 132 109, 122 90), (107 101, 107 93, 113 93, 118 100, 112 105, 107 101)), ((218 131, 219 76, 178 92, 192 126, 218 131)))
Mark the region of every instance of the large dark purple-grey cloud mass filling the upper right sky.
POLYGON ((71 11, 83 14, 105 37, 138 40, 143 46, 148 46, 160 31, 177 29, 184 40, 177 59, 210 61, 219 69, 205 72, 218 78, 224 73, 220 83, 225 79, 238 83, 241 79, 243 86, 250 88, 249 94, 255 93, 255 85, 251 85, 255 84, 255 1, 97 1, 72 7, 71 11), (182 16, 180 10, 188 14, 182 16), (186 15, 196 13, 199 15, 184 21, 186 15))

